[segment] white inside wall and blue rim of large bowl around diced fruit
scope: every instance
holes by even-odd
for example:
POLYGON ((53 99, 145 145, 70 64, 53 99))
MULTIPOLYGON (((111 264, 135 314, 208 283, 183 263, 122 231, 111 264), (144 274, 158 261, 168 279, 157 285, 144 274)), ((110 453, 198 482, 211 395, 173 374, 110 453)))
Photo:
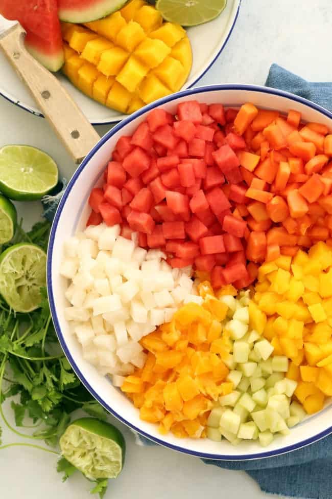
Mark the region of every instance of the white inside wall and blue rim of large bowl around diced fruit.
POLYGON ((64 309, 68 306, 65 298, 67 284, 66 279, 59 273, 63 244, 70 235, 85 226, 89 213, 89 193, 92 187, 101 181, 117 140, 122 135, 131 135, 155 107, 174 112, 179 102, 191 99, 207 104, 220 102, 231 107, 252 102, 259 107, 279 110, 282 113, 295 109, 302 114, 303 120, 324 123, 332 129, 332 114, 322 107, 292 94, 251 85, 216 85, 179 92, 156 101, 117 124, 79 166, 57 210, 51 231, 47 270, 52 317, 63 351, 82 383, 113 416, 133 430, 171 449, 204 458, 235 461, 271 457, 311 444, 332 433, 332 405, 327 403, 318 414, 294 427, 290 435, 276 438, 268 448, 260 447, 257 442, 241 442, 233 447, 226 440, 212 442, 208 439, 177 439, 172 433, 161 436, 157 425, 141 421, 138 409, 125 395, 114 388, 109 379, 101 376, 96 368, 83 360, 81 346, 76 337, 70 334, 64 318, 64 309))

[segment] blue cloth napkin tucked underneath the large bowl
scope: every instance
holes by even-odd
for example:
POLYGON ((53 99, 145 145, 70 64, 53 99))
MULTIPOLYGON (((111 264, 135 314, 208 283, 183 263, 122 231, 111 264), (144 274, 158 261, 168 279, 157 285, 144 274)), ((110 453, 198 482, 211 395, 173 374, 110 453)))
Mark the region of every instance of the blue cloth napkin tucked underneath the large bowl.
MULTIPOLYGON (((332 83, 309 83, 277 64, 272 64, 266 86, 305 97, 332 111, 332 83)), ((66 180, 63 179, 52 192, 52 196, 44 198, 46 219, 53 220, 65 186, 66 180)), ((137 433, 135 436, 139 445, 155 445, 137 433)), ((264 492, 270 494, 302 499, 332 499, 332 435, 275 458, 236 462, 207 459, 203 461, 219 468, 245 470, 264 492)))

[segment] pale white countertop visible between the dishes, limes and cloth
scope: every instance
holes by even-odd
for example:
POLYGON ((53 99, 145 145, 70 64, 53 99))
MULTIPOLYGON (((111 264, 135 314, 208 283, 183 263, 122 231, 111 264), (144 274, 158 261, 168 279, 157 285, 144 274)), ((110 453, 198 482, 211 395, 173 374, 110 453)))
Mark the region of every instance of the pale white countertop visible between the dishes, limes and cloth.
MULTIPOLYGON (((330 47, 330 0, 242 0, 238 22, 218 61, 200 84, 264 84, 273 62, 312 81, 331 81, 328 59, 330 47)), ((66 151, 45 120, 22 111, 0 98, 0 146, 29 144, 47 151, 60 168, 74 171, 66 151)), ((99 126, 104 134, 108 127, 99 126)), ((32 214, 40 211, 35 203, 32 214)), ((6 411, 9 414, 10 410, 6 411)), ((161 447, 138 447, 131 432, 123 430, 127 441, 127 461, 123 473, 110 483, 106 497, 132 499, 209 499, 220 496, 263 499, 257 484, 241 471, 206 466, 199 459, 161 447), (240 493, 240 494, 239 494, 240 493)), ((1 426, 3 426, 1 422, 1 426)), ((3 442, 17 442, 4 429, 3 442)), ((65 484, 55 471, 51 454, 25 447, 0 451, 0 495, 24 499, 89 497, 89 484, 79 474, 65 484)))

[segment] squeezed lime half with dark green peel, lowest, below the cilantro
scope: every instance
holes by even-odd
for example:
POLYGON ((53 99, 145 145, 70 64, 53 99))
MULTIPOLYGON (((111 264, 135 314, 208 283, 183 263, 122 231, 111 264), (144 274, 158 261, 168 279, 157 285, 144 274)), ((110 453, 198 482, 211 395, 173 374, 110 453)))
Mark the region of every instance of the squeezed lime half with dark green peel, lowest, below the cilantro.
POLYGON ((70 424, 60 439, 63 457, 90 480, 116 478, 125 460, 126 444, 115 426, 95 418, 70 424))

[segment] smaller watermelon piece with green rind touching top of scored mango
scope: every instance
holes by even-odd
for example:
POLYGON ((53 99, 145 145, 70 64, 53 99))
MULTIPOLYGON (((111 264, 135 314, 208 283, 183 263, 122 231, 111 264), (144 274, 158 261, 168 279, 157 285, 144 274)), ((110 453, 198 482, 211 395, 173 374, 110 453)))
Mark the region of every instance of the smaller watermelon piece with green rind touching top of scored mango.
POLYGON ((67 23, 89 23, 121 9, 127 0, 58 0, 59 18, 67 23))

